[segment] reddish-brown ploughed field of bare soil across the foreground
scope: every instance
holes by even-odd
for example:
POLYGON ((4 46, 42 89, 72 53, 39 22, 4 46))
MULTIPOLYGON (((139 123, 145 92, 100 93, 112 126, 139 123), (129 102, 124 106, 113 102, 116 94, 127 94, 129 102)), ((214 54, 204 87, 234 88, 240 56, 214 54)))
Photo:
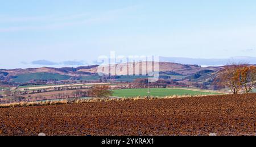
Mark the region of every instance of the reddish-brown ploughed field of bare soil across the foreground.
POLYGON ((0 108, 0 135, 255 135, 256 94, 0 108))

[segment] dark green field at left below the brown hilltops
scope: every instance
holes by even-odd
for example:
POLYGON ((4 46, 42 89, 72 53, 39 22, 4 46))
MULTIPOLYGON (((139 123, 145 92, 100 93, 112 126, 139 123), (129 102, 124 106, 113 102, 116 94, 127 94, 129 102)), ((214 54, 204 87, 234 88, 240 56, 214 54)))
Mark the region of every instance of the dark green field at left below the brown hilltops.
POLYGON ((24 82, 28 82, 34 79, 43 79, 43 80, 47 80, 47 79, 56 79, 56 80, 65 80, 65 79, 69 79, 70 76, 68 75, 60 75, 60 74, 55 74, 55 73, 31 73, 31 74, 20 74, 17 75, 16 78, 13 79, 14 82, 20 82, 20 83, 24 83, 24 82))

